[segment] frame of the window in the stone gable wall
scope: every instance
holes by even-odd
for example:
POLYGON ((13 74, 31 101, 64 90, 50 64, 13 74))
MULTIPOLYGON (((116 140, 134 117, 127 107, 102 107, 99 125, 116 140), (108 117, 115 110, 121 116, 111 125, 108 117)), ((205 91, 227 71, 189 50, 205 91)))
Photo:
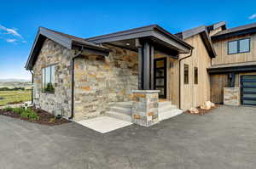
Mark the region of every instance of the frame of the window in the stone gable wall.
POLYGON ((45 67, 42 68, 41 72, 42 72, 42 75, 41 75, 41 78, 42 78, 42 93, 50 93, 50 94, 55 94, 55 82, 52 82, 53 78, 52 76, 54 76, 54 80, 55 80, 55 69, 54 69, 54 74, 52 73, 52 67, 54 66, 54 68, 56 67, 55 64, 53 65, 47 65, 45 67), (52 85, 53 87, 53 91, 50 92, 50 91, 45 91, 45 88, 46 88, 46 69, 49 68, 49 83, 52 85), (44 74, 43 74, 44 72, 44 74))

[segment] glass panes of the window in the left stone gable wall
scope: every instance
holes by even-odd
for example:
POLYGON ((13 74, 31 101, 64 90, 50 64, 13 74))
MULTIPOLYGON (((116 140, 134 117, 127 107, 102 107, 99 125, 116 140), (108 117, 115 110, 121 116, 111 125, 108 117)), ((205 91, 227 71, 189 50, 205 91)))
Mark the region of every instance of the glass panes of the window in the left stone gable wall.
POLYGON ((44 93, 55 93, 55 65, 42 69, 42 91, 44 93))

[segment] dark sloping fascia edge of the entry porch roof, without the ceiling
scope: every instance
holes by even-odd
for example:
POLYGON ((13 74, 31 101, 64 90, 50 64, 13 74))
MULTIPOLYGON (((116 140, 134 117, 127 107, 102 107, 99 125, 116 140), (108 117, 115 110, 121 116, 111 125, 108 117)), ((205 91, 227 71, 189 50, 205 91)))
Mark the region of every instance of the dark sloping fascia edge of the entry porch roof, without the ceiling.
POLYGON ((166 31, 159 25, 147 25, 131 30, 118 31, 98 37, 90 37, 86 40, 89 42, 104 43, 143 37, 154 37, 155 39, 165 42, 166 44, 172 46, 173 48, 176 48, 177 50, 182 51, 183 53, 189 53, 190 49, 193 48, 187 42, 183 42, 183 40, 172 35, 172 33, 166 31))

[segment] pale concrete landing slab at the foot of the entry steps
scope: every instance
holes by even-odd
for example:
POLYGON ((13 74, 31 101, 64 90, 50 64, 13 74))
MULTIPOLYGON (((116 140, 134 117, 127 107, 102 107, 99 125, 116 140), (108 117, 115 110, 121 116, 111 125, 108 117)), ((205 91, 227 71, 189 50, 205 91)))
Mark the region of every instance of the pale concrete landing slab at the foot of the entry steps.
POLYGON ((84 121, 77 121, 77 123, 101 133, 112 132, 119 128, 132 125, 129 121, 122 121, 106 115, 84 121))

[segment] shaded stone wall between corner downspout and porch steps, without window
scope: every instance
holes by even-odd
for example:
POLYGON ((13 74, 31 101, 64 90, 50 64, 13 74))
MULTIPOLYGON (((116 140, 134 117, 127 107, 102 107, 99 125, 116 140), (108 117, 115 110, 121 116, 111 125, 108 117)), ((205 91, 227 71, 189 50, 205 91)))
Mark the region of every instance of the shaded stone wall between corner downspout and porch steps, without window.
POLYGON ((107 47, 108 57, 84 53, 75 59, 76 121, 103 114, 108 103, 132 100, 131 91, 138 88, 137 53, 107 47))

